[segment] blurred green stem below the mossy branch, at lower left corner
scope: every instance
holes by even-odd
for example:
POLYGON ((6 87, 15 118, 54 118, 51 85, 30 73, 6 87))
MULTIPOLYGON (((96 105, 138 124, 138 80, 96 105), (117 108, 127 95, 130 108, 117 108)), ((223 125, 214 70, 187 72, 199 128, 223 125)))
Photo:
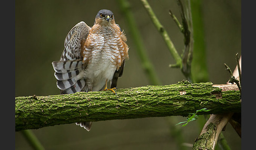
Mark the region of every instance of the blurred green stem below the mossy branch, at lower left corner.
POLYGON ((44 149, 40 141, 38 141, 37 137, 31 130, 23 130, 21 133, 26 138, 27 142, 34 148, 34 149, 44 149))

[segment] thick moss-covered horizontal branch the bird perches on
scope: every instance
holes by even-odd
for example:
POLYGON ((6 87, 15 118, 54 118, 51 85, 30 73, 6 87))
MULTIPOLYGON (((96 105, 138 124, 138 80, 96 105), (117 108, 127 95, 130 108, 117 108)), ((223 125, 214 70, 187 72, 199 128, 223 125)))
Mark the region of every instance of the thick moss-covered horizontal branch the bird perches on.
POLYGON ((202 114, 241 112, 237 90, 221 92, 211 82, 182 81, 172 85, 119 89, 117 96, 111 91, 99 91, 17 97, 15 130, 83 121, 188 116, 202 108, 211 110, 202 114))

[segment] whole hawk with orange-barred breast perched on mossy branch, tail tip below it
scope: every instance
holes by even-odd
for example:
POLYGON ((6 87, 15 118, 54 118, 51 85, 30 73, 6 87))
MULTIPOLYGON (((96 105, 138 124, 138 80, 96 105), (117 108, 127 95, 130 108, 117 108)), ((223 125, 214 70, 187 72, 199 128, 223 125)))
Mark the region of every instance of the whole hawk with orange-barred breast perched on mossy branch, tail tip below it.
MULTIPOLYGON (((128 49, 124 31, 115 23, 114 14, 111 10, 100 10, 92 27, 80 22, 67 34, 60 61, 52 62, 57 88, 61 94, 101 90, 115 93, 117 79, 129 59, 128 49)), ((92 122, 76 125, 90 131, 92 122)))

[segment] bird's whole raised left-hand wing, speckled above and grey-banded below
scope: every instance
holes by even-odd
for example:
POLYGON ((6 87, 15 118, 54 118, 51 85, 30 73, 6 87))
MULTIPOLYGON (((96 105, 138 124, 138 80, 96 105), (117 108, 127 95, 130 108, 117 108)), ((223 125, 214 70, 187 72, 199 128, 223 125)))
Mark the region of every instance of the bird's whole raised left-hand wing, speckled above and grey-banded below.
POLYGON ((52 62, 61 94, 80 92, 85 87, 82 70, 86 64, 82 63, 81 46, 86 41, 90 29, 84 22, 76 24, 65 38, 60 61, 52 62))

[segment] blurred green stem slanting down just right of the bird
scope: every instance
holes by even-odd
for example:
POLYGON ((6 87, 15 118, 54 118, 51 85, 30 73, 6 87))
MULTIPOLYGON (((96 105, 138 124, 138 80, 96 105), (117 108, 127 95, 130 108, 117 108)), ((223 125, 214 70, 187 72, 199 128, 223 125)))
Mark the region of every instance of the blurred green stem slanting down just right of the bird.
POLYGON ((126 0, 119 0, 120 9, 122 10, 123 14, 125 15, 126 22, 129 27, 130 34, 132 36, 133 42, 136 46, 136 51, 139 54, 139 57, 142 62, 143 69, 146 72, 147 77, 150 80, 150 83, 153 85, 161 85, 160 80, 157 78, 155 70, 153 68, 152 63, 150 62, 149 58, 146 55, 146 50, 143 45, 142 38, 140 36, 140 32, 136 27, 136 23, 134 17, 131 13, 131 8, 129 2, 126 0))

